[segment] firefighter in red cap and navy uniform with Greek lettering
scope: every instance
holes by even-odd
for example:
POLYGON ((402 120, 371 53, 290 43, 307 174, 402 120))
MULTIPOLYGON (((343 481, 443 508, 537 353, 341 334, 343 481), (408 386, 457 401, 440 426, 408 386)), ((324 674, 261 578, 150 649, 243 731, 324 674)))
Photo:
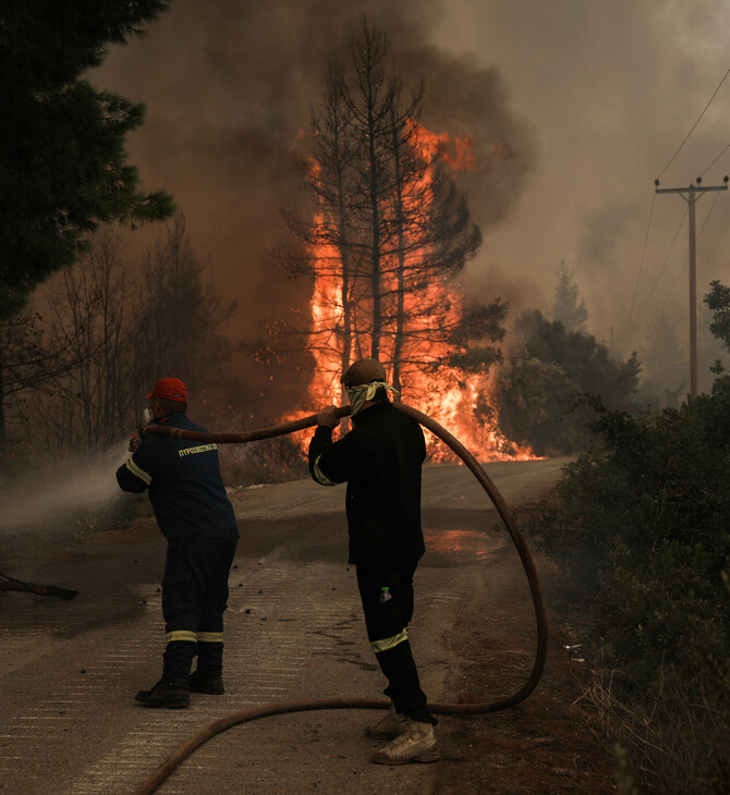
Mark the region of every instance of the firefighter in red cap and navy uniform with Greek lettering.
MULTIPOLYGON (((163 378, 147 395, 146 420, 205 431, 185 415, 187 390, 163 378)), ((149 490, 157 523, 167 538, 162 616, 167 646, 162 676, 136 700, 147 707, 185 708, 190 692, 224 692, 223 612, 239 530, 226 494, 215 444, 169 436, 136 436, 132 457, 117 470, 124 491, 149 490), (191 675, 193 659, 197 666, 191 675)))

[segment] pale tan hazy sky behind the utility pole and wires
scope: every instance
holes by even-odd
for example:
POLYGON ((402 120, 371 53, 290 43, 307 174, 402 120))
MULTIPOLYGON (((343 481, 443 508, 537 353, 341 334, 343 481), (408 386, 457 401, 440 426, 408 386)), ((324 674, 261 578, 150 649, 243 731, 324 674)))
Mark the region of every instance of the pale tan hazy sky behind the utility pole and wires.
MULTIPOLYGON (((730 68, 728 4, 452 0, 449 7, 439 36, 499 65, 539 146, 531 184, 508 221, 485 236, 470 269, 474 278, 524 272, 549 304, 564 259, 599 339, 612 328, 628 353, 664 310, 683 341, 686 203, 656 195, 654 181, 686 187, 703 175, 704 185, 722 185, 730 169, 727 151, 706 170, 730 144, 730 78, 669 163, 730 68)), ((698 295, 711 279, 730 278, 729 218, 727 194, 697 201, 698 295)))

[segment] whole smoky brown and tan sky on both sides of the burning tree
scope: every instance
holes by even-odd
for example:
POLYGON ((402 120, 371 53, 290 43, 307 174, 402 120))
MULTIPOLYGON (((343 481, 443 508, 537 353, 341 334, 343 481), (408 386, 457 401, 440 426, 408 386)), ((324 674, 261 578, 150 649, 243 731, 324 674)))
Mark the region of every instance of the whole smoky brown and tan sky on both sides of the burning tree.
MULTIPOLYGON (((730 171, 730 149, 714 162, 730 144, 721 0, 175 0, 93 78, 146 103, 131 159, 145 187, 174 195, 216 288, 236 299, 234 333, 255 338, 306 302, 271 252, 281 210, 301 201, 294 155, 327 59, 362 14, 388 33, 405 84, 425 80, 426 126, 475 140, 478 168, 460 184, 484 244, 467 294, 501 297, 512 319, 548 311, 564 260, 588 330, 618 354, 658 311, 685 344, 686 204, 654 181, 717 185, 730 171)), ((730 281, 729 218, 730 195, 697 203, 699 296, 730 281)))

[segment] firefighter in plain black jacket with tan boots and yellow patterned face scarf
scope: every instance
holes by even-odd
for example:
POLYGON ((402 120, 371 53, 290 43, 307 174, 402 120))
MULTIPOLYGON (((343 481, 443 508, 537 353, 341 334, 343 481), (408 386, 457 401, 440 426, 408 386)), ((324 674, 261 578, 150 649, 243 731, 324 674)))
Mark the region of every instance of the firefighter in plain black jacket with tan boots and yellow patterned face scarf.
POLYGON ((413 575, 425 551, 421 528, 421 468, 426 447, 421 426, 389 400, 386 371, 360 359, 342 378, 353 430, 332 442, 334 406, 317 414, 309 472, 323 486, 346 481, 350 559, 357 574, 365 625, 388 680, 390 712, 365 733, 392 742, 374 762, 402 765, 438 759, 436 720, 421 689, 407 625, 413 616, 413 575))

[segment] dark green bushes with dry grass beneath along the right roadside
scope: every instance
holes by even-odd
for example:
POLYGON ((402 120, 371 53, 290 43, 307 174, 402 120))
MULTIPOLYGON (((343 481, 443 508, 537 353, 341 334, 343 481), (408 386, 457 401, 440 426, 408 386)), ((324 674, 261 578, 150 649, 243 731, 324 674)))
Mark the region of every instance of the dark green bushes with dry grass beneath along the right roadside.
MULTIPOLYGON (((730 348, 730 291, 711 286, 730 348)), ((714 369, 710 394, 657 413, 586 397, 591 445, 533 527, 593 649, 583 702, 605 718, 624 792, 632 773, 656 792, 730 792, 730 376, 714 369)))

